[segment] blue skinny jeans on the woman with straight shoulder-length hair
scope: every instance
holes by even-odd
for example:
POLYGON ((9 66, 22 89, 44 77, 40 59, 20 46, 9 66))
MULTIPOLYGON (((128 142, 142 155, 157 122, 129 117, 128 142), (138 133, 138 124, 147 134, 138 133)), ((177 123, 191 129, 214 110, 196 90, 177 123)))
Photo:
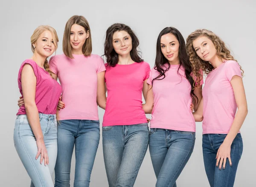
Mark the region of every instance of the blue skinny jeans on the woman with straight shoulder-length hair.
POLYGON ((74 187, 89 187, 99 145, 99 120, 60 120, 55 187, 70 187, 71 158, 75 147, 74 187))

